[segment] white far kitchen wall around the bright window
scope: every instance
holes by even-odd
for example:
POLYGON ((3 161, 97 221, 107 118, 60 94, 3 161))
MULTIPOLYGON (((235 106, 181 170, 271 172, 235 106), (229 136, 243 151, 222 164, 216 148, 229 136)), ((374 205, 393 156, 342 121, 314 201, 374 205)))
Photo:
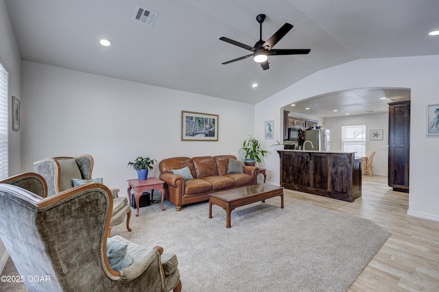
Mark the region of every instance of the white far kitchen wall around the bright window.
POLYGON ((373 173, 388 175, 388 112, 324 119, 324 128, 331 130, 331 151, 342 150, 342 125, 366 125, 366 155, 375 151, 373 173), (383 130, 383 140, 371 141, 370 130, 383 130))

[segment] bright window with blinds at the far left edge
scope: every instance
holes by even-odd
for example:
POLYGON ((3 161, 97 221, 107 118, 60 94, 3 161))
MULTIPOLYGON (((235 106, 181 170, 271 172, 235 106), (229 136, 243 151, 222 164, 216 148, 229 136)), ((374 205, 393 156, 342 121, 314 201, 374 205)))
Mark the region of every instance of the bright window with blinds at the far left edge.
POLYGON ((0 63, 0 179, 8 178, 8 75, 0 63))

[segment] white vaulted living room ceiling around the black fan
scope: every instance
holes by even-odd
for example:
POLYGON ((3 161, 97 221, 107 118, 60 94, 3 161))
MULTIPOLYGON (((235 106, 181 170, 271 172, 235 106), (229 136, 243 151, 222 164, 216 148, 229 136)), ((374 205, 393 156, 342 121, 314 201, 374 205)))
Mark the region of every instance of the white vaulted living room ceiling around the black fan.
POLYGON ((23 60, 249 104, 321 69, 360 58, 434 55, 438 0, 5 0, 23 60), (158 12, 152 27, 134 21, 137 5, 158 12), (294 28, 263 71, 226 36, 254 45, 284 23, 294 28), (111 47, 99 45, 108 38, 111 47), (252 88, 257 82, 259 86, 252 88))

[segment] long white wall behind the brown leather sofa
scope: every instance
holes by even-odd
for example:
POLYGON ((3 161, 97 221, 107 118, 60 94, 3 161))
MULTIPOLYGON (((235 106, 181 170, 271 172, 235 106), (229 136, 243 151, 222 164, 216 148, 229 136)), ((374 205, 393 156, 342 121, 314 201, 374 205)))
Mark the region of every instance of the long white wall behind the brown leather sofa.
MULTIPOLYGON (((254 106, 23 61, 22 167, 91 154, 93 178, 121 189, 137 178, 137 156, 238 156, 253 134, 254 106), (218 114, 219 141, 180 141, 181 110, 218 114)), ((158 165, 149 176, 158 177, 158 165)))

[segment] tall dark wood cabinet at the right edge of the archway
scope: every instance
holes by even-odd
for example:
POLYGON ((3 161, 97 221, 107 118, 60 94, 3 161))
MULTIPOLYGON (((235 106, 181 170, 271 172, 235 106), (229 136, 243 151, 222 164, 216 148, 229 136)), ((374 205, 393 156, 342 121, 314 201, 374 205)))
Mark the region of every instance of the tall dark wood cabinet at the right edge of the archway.
POLYGON ((410 169, 410 100, 389 104, 389 186, 408 193, 410 169))

